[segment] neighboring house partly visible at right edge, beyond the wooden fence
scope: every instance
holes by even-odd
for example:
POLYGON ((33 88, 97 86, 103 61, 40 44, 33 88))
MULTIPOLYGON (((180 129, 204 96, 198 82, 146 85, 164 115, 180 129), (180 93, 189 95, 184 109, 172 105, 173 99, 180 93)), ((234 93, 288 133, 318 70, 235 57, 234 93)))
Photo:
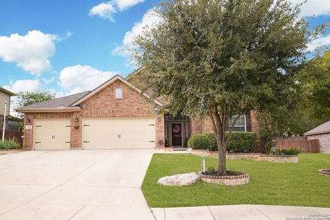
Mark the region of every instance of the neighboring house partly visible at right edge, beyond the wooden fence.
POLYGON ((330 121, 317 126, 304 135, 307 136, 307 140, 319 140, 321 153, 330 153, 330 121))

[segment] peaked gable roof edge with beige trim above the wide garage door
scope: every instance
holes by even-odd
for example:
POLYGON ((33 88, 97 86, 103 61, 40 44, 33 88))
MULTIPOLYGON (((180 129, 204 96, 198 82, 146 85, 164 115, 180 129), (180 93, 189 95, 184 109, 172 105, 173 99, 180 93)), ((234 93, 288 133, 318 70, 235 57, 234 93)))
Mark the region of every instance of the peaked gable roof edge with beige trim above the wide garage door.
MULTIPOLYGON (((113 78, 107 80, 107 82, 103 83, 102 85, 100 85, 99 87, 97 87, 96 89, 94 89, 93 91, 91 91, 89 94, 86 94, 85 96, 83 96, 80 99, 76 100, 76 102, 74 102, 72 105, 76 106, 77 104, 80 104, 80 103, 84 102, 85 100, 87 100, 91 96, 94 96, 99 91, 101 91, 102 89, 104 89, 105 87, 107 87, 108 85, 110 85, 111 83, 115 82, 115 80, 121 80, 123 83, 125 83, 126 85, 128 85, 129 87, 131 87, 132 89, 134 89, 135 91, 141 93, 142 96, 145 96, 146 98, 151 98, 151 96, 149 96, 145 92, 142 93, 142 91, 140 89, 138 89, 137 87, 135 87, 135 85, 129 83, 129 81, 127 81, 126 79, 122 78, 122 76, 115 75, 115 76, 113 76, 113 78)), ((164 105, 162 102, 159 102, 159 100, 153 100, 153 102, 155 102, 156 104, 158 104, 160 106, 163 106, 164 105)))

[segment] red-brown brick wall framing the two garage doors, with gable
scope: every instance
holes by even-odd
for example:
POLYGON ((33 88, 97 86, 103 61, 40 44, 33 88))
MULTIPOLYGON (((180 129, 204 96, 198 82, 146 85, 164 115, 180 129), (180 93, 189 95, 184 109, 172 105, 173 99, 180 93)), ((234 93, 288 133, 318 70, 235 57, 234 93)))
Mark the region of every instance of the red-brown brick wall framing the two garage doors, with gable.
MULTIPOLYGON (((154 102, 149 102, 139 92, 116 80, 94 96, 80 104, 81 111, 72 113, 26 113, 33 127, 35 118, 70 118, 71 119, 71 148, 81 148, 82 118, 155 118, 155 145, 163 148, 165 145, 164 114, 155 113, 154 102), (115 88, 122 88, 122 99, 115 99, 115 88), (74 119, 78 118, 78 122, 74 119)), ((25 125, 27 125, 25 123, 25 125)), ((25 130, 23 148, 32 149, 33 130, 25 130)))

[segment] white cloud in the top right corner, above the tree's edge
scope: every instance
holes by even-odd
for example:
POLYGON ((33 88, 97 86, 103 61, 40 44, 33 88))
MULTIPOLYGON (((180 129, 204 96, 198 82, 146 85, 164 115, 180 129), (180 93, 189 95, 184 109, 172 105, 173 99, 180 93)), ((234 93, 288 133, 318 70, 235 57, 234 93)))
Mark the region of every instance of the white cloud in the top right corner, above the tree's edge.
MULTIPOLYGON (((290 0, 293 5, 298 3, 303 3, 305 0, 290 0)), ((330 3, 329 0, 309 0, 307 3, 303 4, 301 7, 300 16, 310 17, 310 16, 320 16, 330 14, 330 3)))

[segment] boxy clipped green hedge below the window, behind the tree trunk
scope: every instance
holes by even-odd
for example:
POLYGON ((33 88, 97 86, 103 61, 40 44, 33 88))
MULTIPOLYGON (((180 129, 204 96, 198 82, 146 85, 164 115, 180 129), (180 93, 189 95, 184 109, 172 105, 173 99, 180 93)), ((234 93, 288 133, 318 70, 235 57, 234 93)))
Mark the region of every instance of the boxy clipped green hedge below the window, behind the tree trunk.
MULTIPOLYGON (((217 139, 214 133, 208 132, 205 135, 210 140, 210 151, 218 151, 217 139)), ((228 135, 228 133, 226 133, 228 135)), ((228 142, 227 151, 231 153, 248 153, 256 150, 256 133, 254 132, 232 132, 228 142)))

